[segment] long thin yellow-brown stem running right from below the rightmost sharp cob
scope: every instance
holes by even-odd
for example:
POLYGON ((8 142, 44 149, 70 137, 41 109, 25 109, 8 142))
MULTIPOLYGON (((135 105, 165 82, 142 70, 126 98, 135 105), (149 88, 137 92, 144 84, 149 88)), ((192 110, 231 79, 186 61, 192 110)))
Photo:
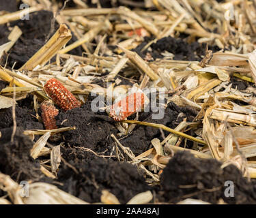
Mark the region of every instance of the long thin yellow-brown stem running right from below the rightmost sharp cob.
POLYGON ((191 140, 193 142, 198 142, 199 144, 207 145, 206 142, 204 142, 203 140, 199 140, 198 138, 195 138, 193 136, 188 136, 187 134, 184 134, 183 132, 176 131, 176 130, 171 129, 169 127, 166 127, 165 125, 162 125, 162 124, 147 123, 147 122, 141 122, 141 121, 128 121, 128 120, 122 121, 122 122, 123 123, 133 123, 133 124, 145 125, 145 126, 155 127, 155 128, 161 128, 161 129, 164 129, 165 131, 169 131, 172 134, 175 134, 177 136, 187 138, 188 140, 191 140))

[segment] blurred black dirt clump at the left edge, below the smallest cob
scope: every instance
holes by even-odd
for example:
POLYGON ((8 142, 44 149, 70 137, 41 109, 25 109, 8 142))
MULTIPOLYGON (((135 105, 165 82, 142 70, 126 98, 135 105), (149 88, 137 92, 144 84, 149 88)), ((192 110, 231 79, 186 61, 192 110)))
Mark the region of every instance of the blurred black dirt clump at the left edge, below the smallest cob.
POLYGON ((10 175, 16 181, 37 180, 42 175, 40 163, 30 156, 33 142, 17 127, 14 142, 11 142, 13 128, 1 129, 0 172, 10 175))

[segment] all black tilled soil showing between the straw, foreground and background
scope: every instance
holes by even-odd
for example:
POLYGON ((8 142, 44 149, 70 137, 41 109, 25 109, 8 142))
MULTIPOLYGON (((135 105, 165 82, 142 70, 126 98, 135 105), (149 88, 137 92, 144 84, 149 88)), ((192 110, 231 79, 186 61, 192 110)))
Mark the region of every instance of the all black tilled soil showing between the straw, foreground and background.
MULTIPOLYGON (((0 10, 12 12, 17 9, 16 1, 13 1, 13 4, 8 1, 9 5, 6 5, 5 2, 0 1, 0 10)), ((113 6, 111 1, 102 0, 101 3, 102 7, 113 6)), ((117 1, 118 5, 120 4, 117 1)), ((68 6, 72 7, 72 2, 68 3, 68 6)), ((53 22, 54 27, 51 27, 52 18, 52 12, 40 11, 30 14, 30 20, 10 22, 10 26, 0 25, 0 44, 7 42, 10 27, 18 25, 23 31, 23 35, 10 50, 8 61, 5 56, 1 63, 4 65, 7 61, 7 67, 12 67, 16 62, 14 68, 21 67, 56 31, 58 25, 57 22, 53 22), (35 23, 37 25, 34 25, 35 23)), ((134 49, 141 57, 145 57, 149 53, 153 59, 162 58, 162 52, 167 51, 173 53, 173 59, 200 61, 205 55, 205 45, 197 42, 188 44, 185 38, 173 37, 158 40, 150 48, 141 52, 141 49, 150 40, 150 38, 145 38, 145 42, 134 49)), ((74 41, 76 41, 76 37, 73 36, 68 44, 74 41)), ((210 49, 216 51, 216 48, 210 49)), ((82 55, 81 47, 72 50, 70 54, 82 55)), ((0 91, 7 85, 0 81, 0 91)), ((238 89, 245 89, 246 85, 246 82, 233 84, 234 88, 238 87, 238 89)), ((16 105, 18 127, 13 142, 11 142, 12 108, 0 110, 0 171, 9 174, 17 182, 23 180, 47 181, 55 185, 57 182, 60 189, 87 202, 100 202, 102 190, 107 189, 123 204, 137 193, 147 190, 155 191, 156 199, 154 200, 159 202, 175 203, 184 198, 198 198, 217 203, 222 198, 231 204, 255 203, 254 182, 248 182, 246 178, 243 178, 236 166, 227 166, 227 168, 221 169, 221 163, 216 160, 196 159, 189 153, 177 153, 163 170, 160 176, 160 185, 150 187, 145 183, 145 176, 136 166, 126 161, 119 162, 115 157, 96 157, 93 153, 85 151, 85 149, 91 149, 100 155, 115 155, 115 142, 111 138, 111 134, 117 137, 118 133, 113 119, 109 118, 105 112, 91 111, 91 100, 89 97, 81 108, 68 112, 60 110, 57 116, 58 127, 76 127, 75 130, 64 132, 60 142, 65 142, 61 145, 62 157, 76 168, 79 174, 76 174, 66 163, 61 163, 57 179, 47 178, 40 171, 39 160, 30 157, 33 142, 23 135, 23 130, 44 128, 42 123, 35 119, 32 95, 18 101, 16 105), (234 198, 225 198, 225 181, 234 182, 236 193, 234 198)), ((165 116, 162 119, 153 120, 152 112, 143 112, 139 116, 139 121, 160 123, 175 128, 184 118, 187 121, 193 121, 195 116, 196 113, 190 108, 180 108, 170 103, 165 109, 165 116)), ((129 119, 134 119, 134 116, 129 119)), ((164 131, 165 137, 168 134, 167 131, 164 131)), ((193 131, 188 131, 186 134, 195 135, 193 131)), ((134 155, 139 155, 150 149, 150 141, 153 138, 161 137, 159 129, 137 125, 131 134, 119 138, 119 142, 130 148, 134 155)), ((56 145, 60 142, 52 144, 56 145)), ((191 145, 191 142, 186 144, 188 147, 191 145)), ((3 193, 0 191, 0 196, 2 195, 3 193)))

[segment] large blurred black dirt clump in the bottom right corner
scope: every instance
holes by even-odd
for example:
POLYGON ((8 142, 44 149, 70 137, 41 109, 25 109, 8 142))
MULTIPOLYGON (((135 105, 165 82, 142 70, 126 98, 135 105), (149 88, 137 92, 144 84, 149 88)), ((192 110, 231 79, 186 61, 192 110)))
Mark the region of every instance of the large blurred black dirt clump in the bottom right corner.
POLYGON ((198 159, 188 152, 175 153, 163 170, 160 195, 165 202, 176 203, 185 198, 216 204, 255 204, 256 189, 234 165, 221 168, 215 159, 198 159), (232 181, 234 196, 225 197, 226 181, 232 181))

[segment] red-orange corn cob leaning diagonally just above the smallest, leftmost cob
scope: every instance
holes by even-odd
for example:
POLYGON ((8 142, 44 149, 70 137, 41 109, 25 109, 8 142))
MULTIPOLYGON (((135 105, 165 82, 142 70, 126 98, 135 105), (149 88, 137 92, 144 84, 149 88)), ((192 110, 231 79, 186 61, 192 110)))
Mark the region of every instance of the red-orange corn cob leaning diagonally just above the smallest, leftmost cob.
POLYGON ((44 84, 44 91, 53 99, 53 102, 64 111, 81 106, 81 102, 55 78, 51 78, 44 84))

